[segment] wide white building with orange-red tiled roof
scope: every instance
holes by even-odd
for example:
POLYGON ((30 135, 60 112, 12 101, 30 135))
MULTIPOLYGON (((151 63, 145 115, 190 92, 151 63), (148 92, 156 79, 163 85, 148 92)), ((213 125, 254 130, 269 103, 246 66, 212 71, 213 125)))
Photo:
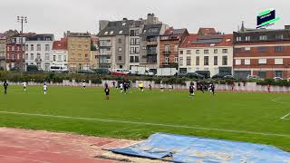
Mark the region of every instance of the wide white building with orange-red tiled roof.
MULTIPOLYGON (((179 72, 232 74, 233 34, 189 34, 179 48, 179 72)), ((206 30, 208 31, 208 30, 206 30)))

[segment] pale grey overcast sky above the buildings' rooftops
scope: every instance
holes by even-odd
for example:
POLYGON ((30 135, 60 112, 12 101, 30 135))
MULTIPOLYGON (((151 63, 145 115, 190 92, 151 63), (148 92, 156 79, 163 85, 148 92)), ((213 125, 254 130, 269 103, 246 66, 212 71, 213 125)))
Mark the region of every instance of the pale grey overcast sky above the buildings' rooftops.
POLYGON ((223 33, 237 31, 241 21, 256 27, 256 15, 275 8, 281 20, 269 28, 290 24, 290 0, 0 0, 0 33, 20 30, 17 15, 26 15, 24 32, 54 34, 63 32, 98 33, 99 20, 146 18, 154 13, 160 21, 175 28, 215 27, 223 33))

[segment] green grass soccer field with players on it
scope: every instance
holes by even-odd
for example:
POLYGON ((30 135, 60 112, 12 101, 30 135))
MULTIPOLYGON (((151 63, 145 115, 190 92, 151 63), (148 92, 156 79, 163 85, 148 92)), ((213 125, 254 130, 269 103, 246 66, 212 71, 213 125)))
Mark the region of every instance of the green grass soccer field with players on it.
MULTIPOLYGON (((3 89, 3 88, 1 88, 3 89)), ((2 90, 3 91, 3 90, 2 90)), ((155 132, 274 145, 290 151, 290 95, 271 93, 10 86, 0 95, 0 126, 145 139, 155 132), (281 119, 284 118, 284 119, 281 119)))

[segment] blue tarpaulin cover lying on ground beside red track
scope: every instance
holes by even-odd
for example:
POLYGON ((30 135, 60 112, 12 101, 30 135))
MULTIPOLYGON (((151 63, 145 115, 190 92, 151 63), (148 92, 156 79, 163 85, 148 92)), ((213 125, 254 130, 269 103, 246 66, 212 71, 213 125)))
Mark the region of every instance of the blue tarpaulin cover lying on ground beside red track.
POLYGON ((290 163, 290 153, 272 146, 221 139, 156 133, 138 144, 114 153, 174 162, 290 163))

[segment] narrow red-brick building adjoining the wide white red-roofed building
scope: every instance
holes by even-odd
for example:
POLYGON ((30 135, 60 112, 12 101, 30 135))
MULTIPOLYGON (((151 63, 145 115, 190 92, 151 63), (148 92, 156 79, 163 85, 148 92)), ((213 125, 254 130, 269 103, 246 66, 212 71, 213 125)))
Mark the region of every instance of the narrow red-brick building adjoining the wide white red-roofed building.
POLYGON ((179 46, 189 35, 187 29, 169 28, 160 35, 160 67, 179 67, 179 46))

